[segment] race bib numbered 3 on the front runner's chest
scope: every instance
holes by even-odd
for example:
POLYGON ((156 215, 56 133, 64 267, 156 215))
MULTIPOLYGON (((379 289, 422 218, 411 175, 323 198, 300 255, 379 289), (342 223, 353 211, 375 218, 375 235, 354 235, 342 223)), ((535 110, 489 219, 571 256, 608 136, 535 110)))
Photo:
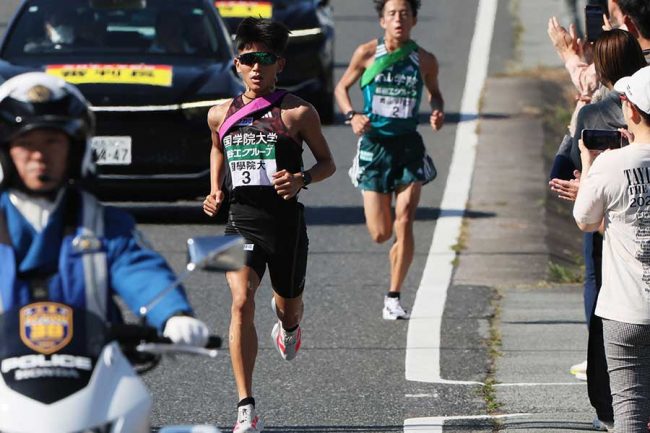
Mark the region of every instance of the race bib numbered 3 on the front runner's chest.
POLYGON ((233 133, 223 139, 230 166, 233 188, 238 186, 271 186, 277 171, 273 132, 233 133))

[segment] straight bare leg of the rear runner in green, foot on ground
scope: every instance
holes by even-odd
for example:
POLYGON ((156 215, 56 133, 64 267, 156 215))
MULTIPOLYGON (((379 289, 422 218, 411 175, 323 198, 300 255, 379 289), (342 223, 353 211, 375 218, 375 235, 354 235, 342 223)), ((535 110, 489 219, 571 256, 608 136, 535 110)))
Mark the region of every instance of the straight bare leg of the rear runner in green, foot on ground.
POLYGON ((400 292, 413 261, 413 222, 420 202, 420 182, 411 183, 397 191, 395 200, 395 243, 390 249, 390 289, 400 292))

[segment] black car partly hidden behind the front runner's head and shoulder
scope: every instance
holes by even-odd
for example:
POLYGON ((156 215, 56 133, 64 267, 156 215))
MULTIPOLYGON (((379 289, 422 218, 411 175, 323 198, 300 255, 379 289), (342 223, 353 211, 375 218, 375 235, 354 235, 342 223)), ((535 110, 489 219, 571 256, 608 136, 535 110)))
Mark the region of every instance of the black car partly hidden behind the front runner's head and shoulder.
POLYGON ((328 0, 217 0, 232 34, 253 16, 282 21, 290 30, 287 67, 278 85, 318 110, 323 123, 334 117, 334 21, 328 0))

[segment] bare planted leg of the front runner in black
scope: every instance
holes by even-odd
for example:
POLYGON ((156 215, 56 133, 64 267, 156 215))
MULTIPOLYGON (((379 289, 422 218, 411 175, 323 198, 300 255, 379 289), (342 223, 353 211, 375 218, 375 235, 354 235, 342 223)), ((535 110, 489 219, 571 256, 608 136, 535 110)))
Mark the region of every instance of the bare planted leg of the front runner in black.
POLYGON ((255 291, 260 284, 250 267, 226 273, 232 293, 230 317, 230 359, 239 400, 253 396, 253 369, 257 357, 255 291))

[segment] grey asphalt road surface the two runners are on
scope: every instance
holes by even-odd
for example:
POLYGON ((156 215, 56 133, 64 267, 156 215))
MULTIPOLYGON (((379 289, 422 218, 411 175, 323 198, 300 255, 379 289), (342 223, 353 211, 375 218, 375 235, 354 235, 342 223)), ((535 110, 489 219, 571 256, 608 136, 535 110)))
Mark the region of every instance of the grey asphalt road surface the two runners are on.
MULTIPOLYGON (((439 59, 448 123, 437 133, 426 124, 420 127, 439 174, 423 190, 415 225, 416 256, 404 286, 407 306, 412 305, 419 285, 447 181, 477 9, 476 0, 454 1, 453 7, 451 2, 423 3, 414 37, 439 59)), ((370 2, 335 0, 333 5, 340 76, 354 48, 380 36, 380 28, 370 2)), ((498 15, 496 27, 508 30, 507 11, 500 10, 498 15)), ((495 35, 501 45, 492 71, 499 70, 500 62, 509 55, 508 34, 495 35)), ((357 90, 353 98, 359 105, 357 90)), ((425 116, 427 107, 423 105, 421 111, 425 116)), ((388 287, 390 245, 372 244, 366 232, 361 196, 347 176, 355 147, 350 128, 335 124, 325 128, 325 135, 338 170, 301 194, 308 208, 310 254, 304 340, 294 362, 282 361, 271 346, 274 316, 268 278, 257 294, 260 350, 254 393, 265 431, 402 432, 407 418, 484 414, 484 401, 476 386, 405 380, 408 322, 385 322, 380 311, 388 287)), ((187 237, 223 230, 220 225, 202 224, 196 213, 199 203, 182 206, 161 205, 139 213, 144 231, 175 269, 183 266, 187 237), (170 213, 176 224, 165 224, 170 213), (181 224, 183 218, 178 216, 186 213, 194 215, 191 219, 197 223, 181 224)), ((226 336, 230 295, 224 276, 197 272, 187 287, 199 317, 217 334, 226 336)), ((449 294, 443 320, 443 377, 484 379, 487 355, 482 342, 490 295, 488 290, 473 287, 455 288, 449 294)), ((237 395, 227 350, 216 360, 165 361, 146 381, 155 398, 154 425, 216 423, 225 431, 232 428, 237 395)), ((445 431, 452 429, 445 427, 445 431)))

